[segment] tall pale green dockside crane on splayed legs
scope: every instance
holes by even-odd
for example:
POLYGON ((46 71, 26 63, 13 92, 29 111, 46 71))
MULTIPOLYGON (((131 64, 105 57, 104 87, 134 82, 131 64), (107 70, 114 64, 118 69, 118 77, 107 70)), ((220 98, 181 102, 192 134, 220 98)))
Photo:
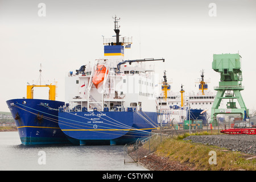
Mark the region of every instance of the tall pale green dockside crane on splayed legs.
POLYGON ((212 69, 219 72, 221 76, 219 86, 214 87, 214 90, 217 90, 217 94, 211 111, 210 122, 215 126, 217 125, 217 114, 241 114, 242 119, 248 117, 249 111, 246 109, 240 93, 244 89, 242 86, 240 58, 241 56, 238 53, 213 55, 212 69), (222 99, 229 100, 225 109, 218 108, 222 99), (240 108, 237 108, 234 100, 238 101, 240 108))

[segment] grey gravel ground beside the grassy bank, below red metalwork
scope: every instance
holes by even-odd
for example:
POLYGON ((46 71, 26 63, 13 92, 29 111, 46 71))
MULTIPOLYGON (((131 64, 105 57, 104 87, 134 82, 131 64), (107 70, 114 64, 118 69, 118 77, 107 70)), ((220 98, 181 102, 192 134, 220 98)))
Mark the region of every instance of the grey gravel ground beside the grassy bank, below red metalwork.
POLYGON ((232 151, 240 151, 245 154, 256 155, 256 135, 194 135, 188 136, 184 140, 191 140, 195 143, 209 144, 232 151))

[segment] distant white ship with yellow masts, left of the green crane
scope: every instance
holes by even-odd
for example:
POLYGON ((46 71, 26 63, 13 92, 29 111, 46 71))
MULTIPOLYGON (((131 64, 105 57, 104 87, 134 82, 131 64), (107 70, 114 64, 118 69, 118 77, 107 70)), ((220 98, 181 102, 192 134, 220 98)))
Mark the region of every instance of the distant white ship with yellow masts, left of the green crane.
MULTIPOLYGON (((214 102, 215 94, 208 90, 208 82, 204 80, 204 71, 199 78, 198 92, 185 92, 183 85, 179 92, 171 90, 171 82, 167 81, 166 71, 164 71, 164 80, 160 90, 160 95, 156 97, 158 102, 158 111, 163 113, 162 122, 172 122, 174 124, 184 123, 189 120, 188 111, 190 108, 191 120, 203 119, 205 125, 210 117, 210 111, 214 102), (204 111, 203 114, 200 114, 204 111)), ((222 105, 222 103, 221 103, 222 105)))

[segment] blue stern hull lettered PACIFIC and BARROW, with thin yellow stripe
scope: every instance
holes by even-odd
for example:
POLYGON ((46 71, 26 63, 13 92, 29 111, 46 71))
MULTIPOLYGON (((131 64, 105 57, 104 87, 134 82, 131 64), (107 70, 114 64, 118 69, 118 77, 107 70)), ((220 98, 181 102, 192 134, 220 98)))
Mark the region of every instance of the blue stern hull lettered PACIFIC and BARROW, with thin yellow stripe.
POLYGON ((157 113, 141 111, 60 112, 59 126, 73 144, 126 144, 156 129, 157 113))

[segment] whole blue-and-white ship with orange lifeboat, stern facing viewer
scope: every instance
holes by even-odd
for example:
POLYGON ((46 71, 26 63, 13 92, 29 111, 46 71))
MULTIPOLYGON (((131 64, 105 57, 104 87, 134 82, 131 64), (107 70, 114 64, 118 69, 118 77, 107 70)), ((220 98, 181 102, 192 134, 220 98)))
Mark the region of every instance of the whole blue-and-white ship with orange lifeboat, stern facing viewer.
POLYGON ((132 39, 119 37, 118 21, 115 17, 114 38, 104 38, 104 59, 65 78, 59 126, 73 144, 126 144, 158 127, 154 69, 146 62, 164 59, 126 60, 132 39))

